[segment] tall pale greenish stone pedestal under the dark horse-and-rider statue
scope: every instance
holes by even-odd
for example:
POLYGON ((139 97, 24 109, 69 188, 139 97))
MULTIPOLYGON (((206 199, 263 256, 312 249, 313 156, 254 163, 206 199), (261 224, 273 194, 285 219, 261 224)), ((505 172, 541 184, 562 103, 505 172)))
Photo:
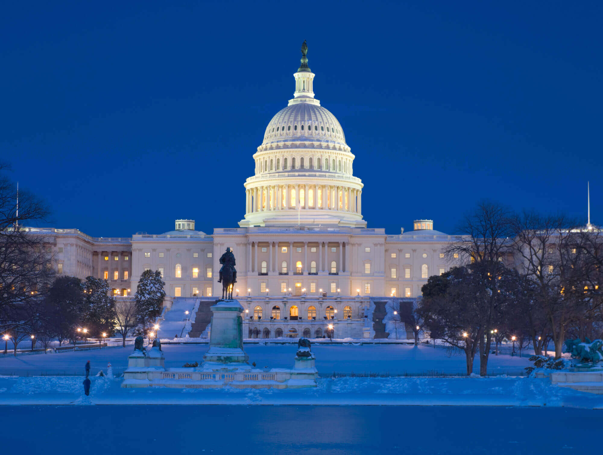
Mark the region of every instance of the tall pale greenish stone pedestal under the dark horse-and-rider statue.
POLYGON ((209 350, 204 362, 247 363, 243 351, 243 307, 236 300, 219 300, 210 307, 213 312, 209 350))

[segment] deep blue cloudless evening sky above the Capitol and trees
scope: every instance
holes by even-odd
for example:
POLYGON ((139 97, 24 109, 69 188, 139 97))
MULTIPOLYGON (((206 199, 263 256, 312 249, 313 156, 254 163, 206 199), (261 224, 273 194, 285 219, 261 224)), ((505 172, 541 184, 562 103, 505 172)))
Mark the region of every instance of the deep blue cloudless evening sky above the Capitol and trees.
POLYGON ((369 227, 453 233, 480 199, 586 223, 587 180, 603 224, 602 5, 4 2, 0 160, 45 225, 235 227, 306 39, 369 227))

